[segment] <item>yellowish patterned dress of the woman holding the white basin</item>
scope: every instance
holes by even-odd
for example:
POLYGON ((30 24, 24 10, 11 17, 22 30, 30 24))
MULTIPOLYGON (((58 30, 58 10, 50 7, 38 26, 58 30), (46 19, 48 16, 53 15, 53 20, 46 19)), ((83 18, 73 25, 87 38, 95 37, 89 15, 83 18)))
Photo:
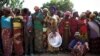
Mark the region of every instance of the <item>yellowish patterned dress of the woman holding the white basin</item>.
MULTIPOLYGON (((49 33, 51 33, 51 32, 53 32, 54 34, 56 32, 58 32, 58 30, 57 30, 57 23, 56 23, 55 19, 51 19, 50 20, 50 26, 47 28, 47 35, 49 35, 49 33)), ((56 51, 59 51, 59 48, 55 48, 55 47, 51 46, 48 43, 48 51, 49 52, 56 52, 56 51)))

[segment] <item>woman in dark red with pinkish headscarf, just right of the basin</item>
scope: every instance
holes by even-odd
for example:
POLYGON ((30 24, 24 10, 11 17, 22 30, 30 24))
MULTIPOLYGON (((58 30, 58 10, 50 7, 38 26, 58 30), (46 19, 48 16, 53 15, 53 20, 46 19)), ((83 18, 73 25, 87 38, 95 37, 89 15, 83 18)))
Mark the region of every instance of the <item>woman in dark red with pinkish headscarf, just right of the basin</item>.
POLYGON ((59 32, 63 39, 62 46, 61 46, 62 51, 68 50, 69 38, 71 36, 70 25, 68 21, 70 15, 71 13, 69 11, 65 12, 64 14, 65 18, 62 19, 62 21, 59 24, 59 32))

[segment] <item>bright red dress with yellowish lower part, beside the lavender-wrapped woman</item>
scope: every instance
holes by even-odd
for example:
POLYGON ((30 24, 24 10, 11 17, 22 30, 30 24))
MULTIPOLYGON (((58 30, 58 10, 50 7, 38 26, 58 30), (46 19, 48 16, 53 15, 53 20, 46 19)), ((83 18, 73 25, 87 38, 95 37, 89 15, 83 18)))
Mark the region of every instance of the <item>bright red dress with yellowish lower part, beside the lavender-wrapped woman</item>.
POLYGON ((79 32, 83 41, 88 41, 87 19, 79 20, 79 32))

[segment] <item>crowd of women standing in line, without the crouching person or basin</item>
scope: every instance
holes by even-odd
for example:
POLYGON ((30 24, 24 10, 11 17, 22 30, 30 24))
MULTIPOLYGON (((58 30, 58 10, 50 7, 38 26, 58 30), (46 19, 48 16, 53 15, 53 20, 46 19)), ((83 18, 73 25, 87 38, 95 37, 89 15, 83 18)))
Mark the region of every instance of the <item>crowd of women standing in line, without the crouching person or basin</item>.
POLYGON ((65 11, 55 7, 40 9, 34 7, 31 14, 28 8, 3 8, 0 10, 0 51, 3 56, 32 56, 37 52, 68 51, 69 43, 80 33, 80 39, 89 43, 92 53, 100 52, 100 13, 65 11), (49 33, 59 32, 62 45, 54 48, 48 43, 49 33))

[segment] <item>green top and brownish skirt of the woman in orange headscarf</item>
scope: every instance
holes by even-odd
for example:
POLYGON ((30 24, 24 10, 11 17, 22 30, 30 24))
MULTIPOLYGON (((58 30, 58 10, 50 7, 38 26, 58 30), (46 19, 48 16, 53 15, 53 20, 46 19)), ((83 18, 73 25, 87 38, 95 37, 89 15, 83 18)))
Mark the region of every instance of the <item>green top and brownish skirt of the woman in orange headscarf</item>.
POLYGON ((36 12, 32 15, 34 28, 34 50, 43 52, 43 25, 44 16, 41 12, 36 12))

